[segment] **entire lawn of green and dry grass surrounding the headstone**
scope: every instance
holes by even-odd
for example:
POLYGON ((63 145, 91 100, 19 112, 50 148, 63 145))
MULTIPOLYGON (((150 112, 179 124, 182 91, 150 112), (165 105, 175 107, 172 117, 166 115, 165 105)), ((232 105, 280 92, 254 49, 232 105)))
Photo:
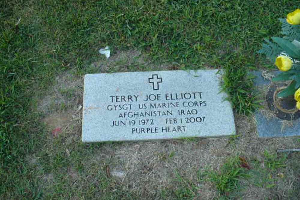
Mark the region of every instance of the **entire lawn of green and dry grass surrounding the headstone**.
POLYGON ((1 1, 0 199, 300 199, 299 153, 276 154, 300 139, 257 137, 247 76, 299 3, 1 1), (84 74, 215 68, 237 136, 80 142, 84 74))

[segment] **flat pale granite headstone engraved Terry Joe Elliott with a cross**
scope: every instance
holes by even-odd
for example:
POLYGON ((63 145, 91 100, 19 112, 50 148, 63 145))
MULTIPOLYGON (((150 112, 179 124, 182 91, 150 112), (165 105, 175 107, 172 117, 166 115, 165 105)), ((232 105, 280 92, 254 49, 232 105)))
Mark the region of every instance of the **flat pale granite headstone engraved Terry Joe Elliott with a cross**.
POLYGON ((235 134, 217 70, 87 74, 82 142, 235 134))

